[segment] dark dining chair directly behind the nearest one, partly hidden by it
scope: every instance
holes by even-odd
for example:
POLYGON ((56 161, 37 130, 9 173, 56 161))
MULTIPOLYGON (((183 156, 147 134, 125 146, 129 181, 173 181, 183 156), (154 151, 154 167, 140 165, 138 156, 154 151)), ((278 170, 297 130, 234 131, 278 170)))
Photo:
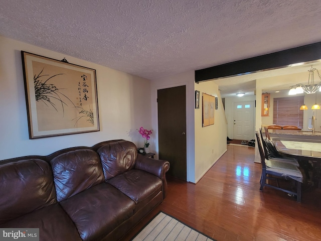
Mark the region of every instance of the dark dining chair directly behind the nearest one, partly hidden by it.
POLYGON ((298 161, 296 159, 281 156, 278 153, 278 151, 276 150, 273 141, 268 140, 267 138, 263 138, 261 129, 260 129, 260 136, 261 136, 262 147, 263 147, 265 159, 284 162, 284 163, 290 163, 290 164, 293 164, 294 166, 297 166, 297 167, 300 166, 300 164, 298 163, 298 161))

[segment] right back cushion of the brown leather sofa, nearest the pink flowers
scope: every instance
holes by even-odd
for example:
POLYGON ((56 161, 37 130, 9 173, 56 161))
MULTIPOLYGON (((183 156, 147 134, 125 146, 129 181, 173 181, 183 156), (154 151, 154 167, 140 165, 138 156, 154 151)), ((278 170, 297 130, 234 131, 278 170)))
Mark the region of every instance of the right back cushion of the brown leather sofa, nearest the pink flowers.
POLYGON ((105 181, 135 166, 137 148, 128 141, 106 144, 97 150, 100 156, 105 181))

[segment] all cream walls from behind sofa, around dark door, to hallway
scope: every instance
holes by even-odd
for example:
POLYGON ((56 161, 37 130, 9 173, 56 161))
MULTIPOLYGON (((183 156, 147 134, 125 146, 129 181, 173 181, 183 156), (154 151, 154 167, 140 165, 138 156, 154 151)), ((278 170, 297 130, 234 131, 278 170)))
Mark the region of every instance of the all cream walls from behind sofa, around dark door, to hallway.
POLYGON ((202 128, 201 109, 195 109, 195 89, 218 96, 211 82, 195 84, 193 70, 158 80, 147 80, 108 67, 66 56, 0 36, 0 160, 48 155, 57 150, 92 146, 98 142, 125 139, 142 147, 137 130, 153 129, 150 149, 158 151, 157 89, 186 85, 187 91, 187 179, 196 183, 226 151, 223 105, 215 111, 215 125, 202 128), (96 70, 100 132, 29 140, 21 50, 96 70))

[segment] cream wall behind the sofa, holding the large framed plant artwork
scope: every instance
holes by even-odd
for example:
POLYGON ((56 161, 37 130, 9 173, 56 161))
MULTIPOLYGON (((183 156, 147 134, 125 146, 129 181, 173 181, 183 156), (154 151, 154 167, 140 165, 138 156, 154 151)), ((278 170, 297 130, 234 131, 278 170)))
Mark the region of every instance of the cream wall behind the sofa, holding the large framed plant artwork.
MULTIPOLYGON (((113 139, 143 146, 136 129, 151 129, 150 81, 0 36, 0 160, 48 155, 113 139), (100 132, 29 140, 21 50, 96 69, 100 132)), ((152 134, 152 140, 155 138, 152 134)), ((153 150, 153 146, 151 146, 153 150)))

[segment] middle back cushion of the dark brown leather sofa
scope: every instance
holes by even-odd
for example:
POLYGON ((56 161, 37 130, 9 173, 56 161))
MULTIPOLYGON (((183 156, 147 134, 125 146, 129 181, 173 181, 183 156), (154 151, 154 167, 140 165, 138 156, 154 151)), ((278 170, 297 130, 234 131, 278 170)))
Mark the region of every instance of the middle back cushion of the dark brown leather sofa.
POLYGON ((63 153, 50 161, 61 202, 77 193, 104 182, 98 154, 89 149, 63 153))

